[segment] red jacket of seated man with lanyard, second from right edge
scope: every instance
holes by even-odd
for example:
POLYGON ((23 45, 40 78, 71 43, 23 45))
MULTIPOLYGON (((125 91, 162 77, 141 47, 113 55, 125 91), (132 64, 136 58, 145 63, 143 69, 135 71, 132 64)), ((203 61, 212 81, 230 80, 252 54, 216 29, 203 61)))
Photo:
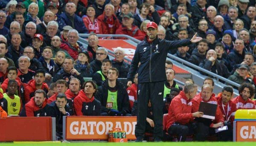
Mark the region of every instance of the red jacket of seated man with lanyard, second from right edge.
POLYGON ((228 101, 228 103, 224 104, 222 107, 222 97, 218 96, 216 97, 217 101, 218 101, 218 106, 221 109, 221 113, 222 115, 224 115, 224 120, 229 120, 231 123, 233 123, 233 121, 235 120, 235 112, 236 112, 236 104, 233 103, 231 100, 228 101), (229 109, 227 111, 227 108, 229 106, 229 109), (224 112, 224 110, 225 112, 224 112))

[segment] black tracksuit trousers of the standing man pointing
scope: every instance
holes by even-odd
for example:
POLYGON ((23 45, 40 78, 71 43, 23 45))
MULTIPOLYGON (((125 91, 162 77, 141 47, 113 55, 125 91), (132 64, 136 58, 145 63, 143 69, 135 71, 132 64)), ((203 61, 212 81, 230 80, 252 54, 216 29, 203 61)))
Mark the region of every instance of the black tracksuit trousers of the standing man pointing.
POLYGON ((137 125, 135 126, 135 136, 137 139, 144 138, 148 101, 151 102, 151 107, 154 116, 154 137, 163 137, 163 90, 164 81, 139 83, 137 89, 137 125))

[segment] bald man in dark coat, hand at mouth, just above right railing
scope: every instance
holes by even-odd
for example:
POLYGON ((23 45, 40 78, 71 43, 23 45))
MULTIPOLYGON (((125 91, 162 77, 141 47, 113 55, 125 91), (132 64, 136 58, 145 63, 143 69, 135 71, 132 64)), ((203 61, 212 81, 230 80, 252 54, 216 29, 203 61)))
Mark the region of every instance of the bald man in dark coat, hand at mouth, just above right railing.
POLYGON ((203 60, 199 66, 212 73, 228 78, 230 76, 230 72, 228 71, 227 67, 223 63, 218 62, 216 59, 217 53, 215 50, 210 49, 206 54, 206 59, 203 60))

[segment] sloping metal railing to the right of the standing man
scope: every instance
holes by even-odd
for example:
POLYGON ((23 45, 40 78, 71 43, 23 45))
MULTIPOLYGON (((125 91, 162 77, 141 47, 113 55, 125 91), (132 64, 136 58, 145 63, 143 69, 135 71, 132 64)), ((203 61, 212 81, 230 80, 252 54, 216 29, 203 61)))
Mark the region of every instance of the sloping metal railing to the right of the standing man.
POLYGON ((181 59, 181 58, 179 58, 179 57, 176 57, 176 56, 174 56, 174 55, 172 55, 172 54, 169 54, 169 53, 168 53, 167 56, 170 57, 170 58, 172 58, 172 59, 174 59, 174 60, 176 60, 176 61, 178 61, 178 62, 180 62, 181 64, 185 64, 186 66, 189 66, 189 67, 192 67, 192 68, 194 68, 194 69, 197 69, 197 70, 199 70, 199 71, 201 71, 201 72, 207 73, 207 74, 211 75, 212 77, 217 78, 217 80, 222 80, 222 81, 224 81, 224 82, 226 82, 226 83, 229 83, 229 84, 231 84, 231 85, 233 85, 233 86, 236 86, 236 87, 239 87, 239 86, 240 86, 238 83, 235 83, 235 82, 233 82, 233 81, 231 81, 231 80, 228 80, 228 79, 226 79, 226 78, 224 78, 224 77, 221 77, 221 76, 218 75, 218 74, 212 73, 212 72, 210 72, 210 71, 208 71, 208 70, 206 70, 206 69, 203 69, 203 68, 201 68, 201 67, 199 67, 199 66, 196 66, 195 64, 192 64, 192 63, 190 63, 190 62, 188 62, 188 61, 186 61, 186 60, 183 60, 183 59, 181 59))

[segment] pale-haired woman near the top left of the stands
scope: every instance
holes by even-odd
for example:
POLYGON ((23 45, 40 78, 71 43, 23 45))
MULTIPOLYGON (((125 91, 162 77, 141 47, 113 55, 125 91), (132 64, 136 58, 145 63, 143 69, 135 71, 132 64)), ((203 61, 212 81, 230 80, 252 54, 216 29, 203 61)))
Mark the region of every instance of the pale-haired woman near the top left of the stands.
MULTIPOLYGON (((25 4, 26 6, 26 4, 25 4)), ((26 6, 27 7, 27 6, 26 6)), ((30 3, 28 6, 28 13, 27 15, 29 15, 30 17, 32 17, 33 22, 38 25, 39 23, 42 23, 42 21, 40 20, 41 17, 43 17, 44 11, 42 12, 42 14, 38 15, 38 4, 37 3, 30 3), (38 17, 39 16, 39 17, 38 17)))

